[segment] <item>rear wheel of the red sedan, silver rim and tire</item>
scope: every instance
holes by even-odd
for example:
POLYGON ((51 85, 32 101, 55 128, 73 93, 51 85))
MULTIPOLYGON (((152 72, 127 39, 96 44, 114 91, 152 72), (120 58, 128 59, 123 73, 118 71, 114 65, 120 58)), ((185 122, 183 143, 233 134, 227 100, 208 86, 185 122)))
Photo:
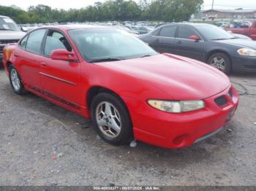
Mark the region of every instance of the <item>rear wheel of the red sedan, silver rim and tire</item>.
POLYGON ((10 79, 10 83, 12 85, 12 90, 15 93, 17 93, 18 95, 23 95, 26 93, 26 89, 23 86, 23 83, 20 79, 20 75, 18 74, 18 71, 12 65, 10 66, 9 79, 10 79))

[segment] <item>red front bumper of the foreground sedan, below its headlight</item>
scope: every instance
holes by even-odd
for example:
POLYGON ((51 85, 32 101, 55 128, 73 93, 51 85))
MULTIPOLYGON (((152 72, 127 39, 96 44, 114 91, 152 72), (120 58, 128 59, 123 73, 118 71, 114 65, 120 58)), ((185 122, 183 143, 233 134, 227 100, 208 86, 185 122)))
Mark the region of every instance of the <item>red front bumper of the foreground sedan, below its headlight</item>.
POLYGON ((141 101, 124 99, 131 114, 135 139, 167 149, 189 147, 213 136, 230 122, 238 107, 238 93, 233 87, 206 98, 205 109, 181 114, 161 112, 141 101), (224 106, 215 102, 220 96, 227 100, 224 106))

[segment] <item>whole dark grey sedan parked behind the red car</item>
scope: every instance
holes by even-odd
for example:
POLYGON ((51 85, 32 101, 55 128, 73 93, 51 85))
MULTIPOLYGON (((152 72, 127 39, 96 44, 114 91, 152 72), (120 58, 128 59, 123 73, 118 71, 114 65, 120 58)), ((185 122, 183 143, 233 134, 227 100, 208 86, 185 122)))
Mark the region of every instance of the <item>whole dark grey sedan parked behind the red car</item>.
POLYGON ((256 71, 256 42, 240 39, 217 26, 173 23, 140 39, 158 52, 182 55, 231 71, 256 71))

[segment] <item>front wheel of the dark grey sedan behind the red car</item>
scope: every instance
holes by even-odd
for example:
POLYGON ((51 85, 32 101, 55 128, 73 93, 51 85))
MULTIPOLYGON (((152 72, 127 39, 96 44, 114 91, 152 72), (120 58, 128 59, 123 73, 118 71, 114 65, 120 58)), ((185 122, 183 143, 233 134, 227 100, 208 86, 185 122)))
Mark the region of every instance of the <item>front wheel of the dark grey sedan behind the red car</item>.
POLYGON ((219 52, 211 55, 207 63, 225 74, 230 74, 231 72, 230 58, 224 53, 219 52))

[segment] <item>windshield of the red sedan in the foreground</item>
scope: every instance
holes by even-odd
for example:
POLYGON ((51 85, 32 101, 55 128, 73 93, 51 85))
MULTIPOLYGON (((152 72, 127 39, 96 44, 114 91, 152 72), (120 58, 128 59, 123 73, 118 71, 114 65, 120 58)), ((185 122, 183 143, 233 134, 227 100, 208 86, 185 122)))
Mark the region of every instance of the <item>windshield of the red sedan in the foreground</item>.
POLYGON ((86 61, 126 60, 157 55, 140 39, 116 28, 86 28, 70 30, 79 52, 86 61))

